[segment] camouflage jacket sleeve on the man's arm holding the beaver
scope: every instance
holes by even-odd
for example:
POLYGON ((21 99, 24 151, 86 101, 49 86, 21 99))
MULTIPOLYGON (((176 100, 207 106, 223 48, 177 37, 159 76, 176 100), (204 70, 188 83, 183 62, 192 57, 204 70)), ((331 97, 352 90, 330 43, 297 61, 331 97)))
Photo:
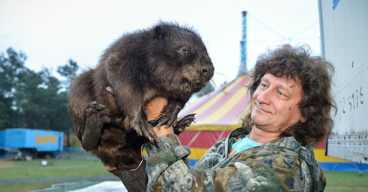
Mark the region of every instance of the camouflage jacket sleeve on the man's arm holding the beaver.
POLYGON ((146 146, 147 192, 185 191, 287 191, 269 166, 249 160, 233 160, 224 167, 197 169, 189 166, 190 149, 174 134, 159 137, 146 146), (248 162, 247 162, 248 161, 248 162), (251 163, 250 166, 247 166, 251 163))

